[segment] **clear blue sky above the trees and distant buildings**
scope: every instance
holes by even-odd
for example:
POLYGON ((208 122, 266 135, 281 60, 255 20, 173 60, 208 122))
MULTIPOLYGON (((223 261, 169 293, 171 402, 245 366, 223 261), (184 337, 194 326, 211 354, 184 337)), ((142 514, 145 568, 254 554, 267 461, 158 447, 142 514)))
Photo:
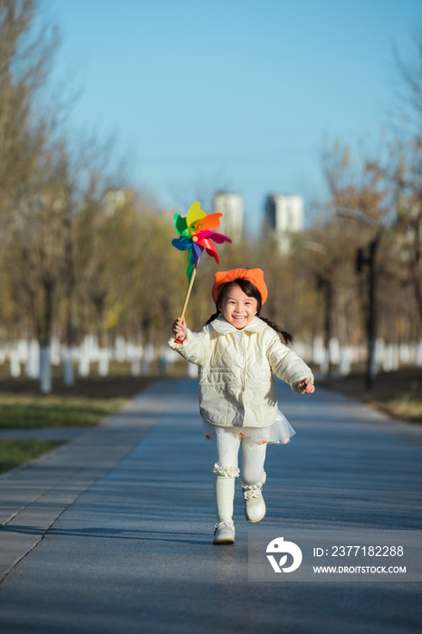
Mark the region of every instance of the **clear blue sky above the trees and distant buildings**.
POLYGON ((305 214, 324 196, 324 138, 376 144, 392 44, 406 55, 422 29, 413 0, 55 0, 49 13, 54 77, 82 89, 75 127, 116 133, 132 181, 165 206, 240 192, 252 231, 270 192, 302 195, 305 214))

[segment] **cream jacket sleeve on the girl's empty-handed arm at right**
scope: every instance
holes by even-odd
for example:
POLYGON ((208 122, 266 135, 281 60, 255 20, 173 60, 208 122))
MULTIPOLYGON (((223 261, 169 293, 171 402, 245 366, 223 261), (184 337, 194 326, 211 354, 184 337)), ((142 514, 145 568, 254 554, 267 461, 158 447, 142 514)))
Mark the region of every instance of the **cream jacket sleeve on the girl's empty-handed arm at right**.
MULTIPOLYGON (((266 333, 265 333, 266 334, 266 333)), ((271 370, 276 377, 288 383, 297 394, 303 394, 304 390, 297 387, 303 379, 310 379, 313 383, 312 370, 296 352, 287 348, 274 331, 270 333, 267 348, 267 358, 271 370)))

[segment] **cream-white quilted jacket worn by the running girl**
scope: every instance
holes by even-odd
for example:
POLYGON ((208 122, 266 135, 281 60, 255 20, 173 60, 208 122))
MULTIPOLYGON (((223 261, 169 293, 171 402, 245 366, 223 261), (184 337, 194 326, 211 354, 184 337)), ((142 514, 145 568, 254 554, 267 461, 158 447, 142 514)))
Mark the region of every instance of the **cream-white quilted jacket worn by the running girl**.
POLYGON ((214 425, 272 425, 277 413, 273 373, 299 394, 301 380, 313 382, 306 363, 258 317, 237 330, 220 315, 200 332, 187 329, 183 343, 172 337, 168 345, 199 366, 199 410, 214 425))

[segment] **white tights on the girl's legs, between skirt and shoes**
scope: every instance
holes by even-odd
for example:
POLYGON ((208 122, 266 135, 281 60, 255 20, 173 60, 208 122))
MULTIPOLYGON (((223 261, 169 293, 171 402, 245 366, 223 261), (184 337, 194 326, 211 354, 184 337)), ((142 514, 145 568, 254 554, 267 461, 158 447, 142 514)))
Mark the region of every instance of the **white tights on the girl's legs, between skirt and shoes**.
POLYGON ((218 522, 233 523, 236 476, 240 475, 244 491, 260 489, 264 485, 265 453, 266 445, 257 445, 250 438, 232 436, 232 434, 216 436, 217 461, 213 471, 218 522), (240 446, 242 446, 242 465, 239 470, 237 456, 240 446))

